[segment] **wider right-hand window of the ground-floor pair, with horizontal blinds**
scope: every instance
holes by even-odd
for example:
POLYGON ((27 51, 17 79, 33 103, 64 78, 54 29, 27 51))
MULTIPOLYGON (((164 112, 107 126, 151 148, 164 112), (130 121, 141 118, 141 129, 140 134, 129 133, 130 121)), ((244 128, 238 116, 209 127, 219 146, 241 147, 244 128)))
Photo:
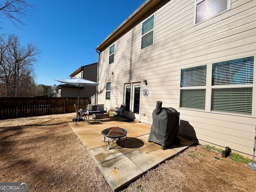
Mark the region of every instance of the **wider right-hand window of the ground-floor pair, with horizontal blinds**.
POLYGON ((212 111, 252 114, 253 66, 253 56, 212 64, 212 111))

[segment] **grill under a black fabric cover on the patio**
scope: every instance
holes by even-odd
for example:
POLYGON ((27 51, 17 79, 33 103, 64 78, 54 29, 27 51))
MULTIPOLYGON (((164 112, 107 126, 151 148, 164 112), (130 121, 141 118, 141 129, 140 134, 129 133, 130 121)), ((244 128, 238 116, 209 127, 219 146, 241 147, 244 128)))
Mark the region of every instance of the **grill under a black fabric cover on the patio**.
POLYGON ((153 123, 150 129, 148 142, 162 145, 162 150, 174 142, 180 142, 179 122, 180 113, 174 108, 162 108, 162 102, 157 101, 156 109, 152 113, 153 123))

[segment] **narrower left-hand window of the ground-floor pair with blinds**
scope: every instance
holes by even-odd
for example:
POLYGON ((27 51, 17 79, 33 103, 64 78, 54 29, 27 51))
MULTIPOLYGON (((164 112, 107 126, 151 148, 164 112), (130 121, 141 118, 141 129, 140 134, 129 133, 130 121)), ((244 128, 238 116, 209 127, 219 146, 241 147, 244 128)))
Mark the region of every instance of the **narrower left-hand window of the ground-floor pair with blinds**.
POLYGON ((181 70, 180 107, 205 109, 206 65, 181 70))

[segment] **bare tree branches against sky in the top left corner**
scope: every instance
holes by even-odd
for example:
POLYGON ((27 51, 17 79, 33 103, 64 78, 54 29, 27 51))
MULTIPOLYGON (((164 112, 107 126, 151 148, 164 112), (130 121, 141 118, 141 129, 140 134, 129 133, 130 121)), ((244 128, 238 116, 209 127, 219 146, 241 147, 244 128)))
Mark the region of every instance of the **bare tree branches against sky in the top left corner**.
POLYGON ((4 3, 0 3, 0 18, 7 17, 17 28, 20 28, 20 25, 26 25, 22 19, 28 19, 29 8, 36 8, 36 6, 24 0, 5 0, 4 3))

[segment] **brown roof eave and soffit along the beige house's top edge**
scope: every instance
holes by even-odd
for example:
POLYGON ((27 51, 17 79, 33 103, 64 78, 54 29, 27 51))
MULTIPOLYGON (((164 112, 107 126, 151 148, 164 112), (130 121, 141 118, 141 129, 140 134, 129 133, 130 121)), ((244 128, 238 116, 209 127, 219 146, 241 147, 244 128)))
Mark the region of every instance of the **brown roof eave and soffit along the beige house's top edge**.
POLYGON ((120 24, 106 39, 104 39, 95 49, 102 50, 110 44, 116 37, 125 32, 130 26, 136 23, 142 16, 148 13, 162 0, 146 0, 138 9, 136 9, 122 24, 120 24))

